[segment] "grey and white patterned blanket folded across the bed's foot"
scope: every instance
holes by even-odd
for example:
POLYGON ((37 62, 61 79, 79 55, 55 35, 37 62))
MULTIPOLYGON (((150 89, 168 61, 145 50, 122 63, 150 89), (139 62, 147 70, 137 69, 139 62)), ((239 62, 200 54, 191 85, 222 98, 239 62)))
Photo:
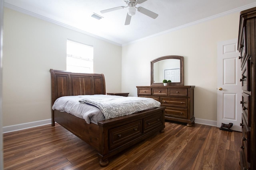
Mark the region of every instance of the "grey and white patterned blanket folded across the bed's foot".
POLYGON ((160 107, 160 102, 152 98, 140 97, 122 97, 122 98, 85 98, 79 100, 80 103, 86 103, 98 107, 106 119, 130 115, 138 111, 160 107))

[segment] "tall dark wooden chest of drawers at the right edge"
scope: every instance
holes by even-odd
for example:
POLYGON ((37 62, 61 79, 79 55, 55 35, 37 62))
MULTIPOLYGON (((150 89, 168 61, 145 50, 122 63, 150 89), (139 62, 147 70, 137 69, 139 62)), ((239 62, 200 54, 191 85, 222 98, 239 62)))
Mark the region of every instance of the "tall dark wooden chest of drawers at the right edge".
POLYGON ((256 8, 240 13, 238 50, 241 53, 242 139, 241 170, 256 170, 256 8))

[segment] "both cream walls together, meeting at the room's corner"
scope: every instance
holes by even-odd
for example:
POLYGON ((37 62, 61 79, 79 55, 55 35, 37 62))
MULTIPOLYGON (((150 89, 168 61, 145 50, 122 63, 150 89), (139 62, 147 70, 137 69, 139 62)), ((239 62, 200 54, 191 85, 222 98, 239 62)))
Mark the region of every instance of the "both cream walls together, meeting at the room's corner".
POLYGON ((184 85, 196 86, 194 115, 216 121, 217 43, 237 38, 238 24, 235 13, 119 47, 5 8, 3 126, 51 118, 49 69, 66 69, 67 39, 93 45, 94 72, 105 75, 106 91, 130 96, 150 85, 150 61, 184 56, 184 85))

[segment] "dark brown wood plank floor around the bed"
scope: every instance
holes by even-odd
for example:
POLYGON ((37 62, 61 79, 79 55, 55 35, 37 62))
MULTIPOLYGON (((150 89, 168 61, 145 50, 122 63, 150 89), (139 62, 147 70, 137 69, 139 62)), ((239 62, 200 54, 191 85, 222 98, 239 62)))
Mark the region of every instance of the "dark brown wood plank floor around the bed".
POLYGON ((164 133, 110 158, 56 124, 4 134, 6 170, 239 170, 242 133, 165 123, 164 133))

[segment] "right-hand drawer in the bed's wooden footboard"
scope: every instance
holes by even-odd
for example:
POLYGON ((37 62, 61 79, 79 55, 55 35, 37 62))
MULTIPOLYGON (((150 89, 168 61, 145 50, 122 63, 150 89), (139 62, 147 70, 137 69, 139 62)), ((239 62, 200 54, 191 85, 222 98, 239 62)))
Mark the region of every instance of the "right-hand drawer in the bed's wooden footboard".
POLYGON ((161 113, 145 118, 144 120, 144 133, 159 127, 163 124, 163 118, 161 113))

